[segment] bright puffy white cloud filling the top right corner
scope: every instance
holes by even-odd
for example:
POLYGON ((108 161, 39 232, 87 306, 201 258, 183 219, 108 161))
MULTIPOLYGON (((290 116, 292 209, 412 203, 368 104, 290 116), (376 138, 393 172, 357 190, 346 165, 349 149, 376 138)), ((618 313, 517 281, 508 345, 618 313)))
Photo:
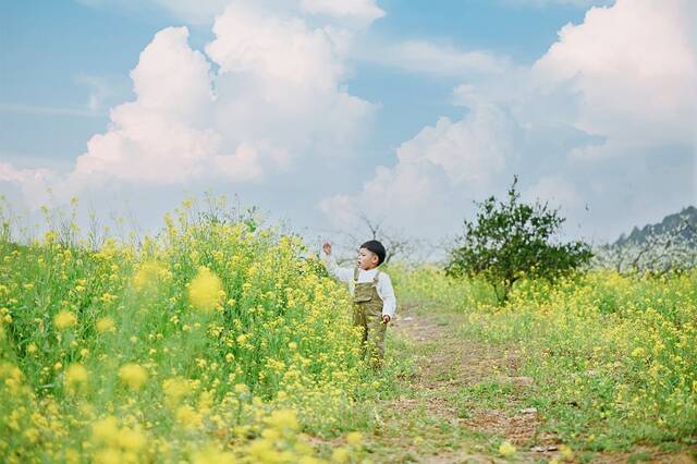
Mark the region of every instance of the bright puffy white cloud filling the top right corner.
POLYGON ((534 75, 541 86, 568 85, 582 96, 574 123, 583 131, 641 143, 686 141, 697 101, 695 13, 689 0, 594 8, 583 24, 561 29, 534 75))

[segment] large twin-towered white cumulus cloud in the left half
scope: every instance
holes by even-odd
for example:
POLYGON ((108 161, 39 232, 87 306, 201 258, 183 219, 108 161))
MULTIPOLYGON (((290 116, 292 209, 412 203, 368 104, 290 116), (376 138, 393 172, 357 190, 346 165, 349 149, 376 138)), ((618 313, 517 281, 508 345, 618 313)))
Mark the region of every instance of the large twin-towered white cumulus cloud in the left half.
MULTIPOLYGON (((330 13, 359 13, 352 11, 330 13)), ((191 48, 187 27, 157 33, 131 72, 135 99, 111 109, 109 126, 71 172, 53 173, 54 191, 70 196, 110 182, 246 185, 313 170, 318 157, 345 158, 374 110, 343 84, 353 32, 311 26, 301 13, 233 2, 217 16, 205 53, 191 48)), ((5 171, 8 183, 30 178, 5 171)))

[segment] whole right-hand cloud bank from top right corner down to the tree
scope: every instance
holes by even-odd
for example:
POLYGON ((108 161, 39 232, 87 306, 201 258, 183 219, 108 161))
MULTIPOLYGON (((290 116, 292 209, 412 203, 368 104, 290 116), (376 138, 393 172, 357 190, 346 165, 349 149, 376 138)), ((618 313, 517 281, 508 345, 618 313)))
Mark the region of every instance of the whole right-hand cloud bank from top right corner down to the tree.
POLYGON ((453 93, 467 117, 424 129, 360 193, 320 207, 345 224, 356 216, 347 208, 387 198, 395 222, 427 230, 414 218, 466 216, 463 198, 502 193, 518 173, 526 198, 561 205, 574 227, 608 240, 694 203, 696 9, 688 0, 591 8, 528 69, 469 76, 453 93), (418 194, 400 204, 405 185, 418 194))

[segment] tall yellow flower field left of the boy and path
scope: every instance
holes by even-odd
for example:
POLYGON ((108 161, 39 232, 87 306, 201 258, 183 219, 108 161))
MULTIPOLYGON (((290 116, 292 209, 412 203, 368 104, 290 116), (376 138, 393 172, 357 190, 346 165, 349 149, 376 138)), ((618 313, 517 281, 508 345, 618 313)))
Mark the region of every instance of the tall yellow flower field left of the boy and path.
POLYGON ((309 463, 304 434, 369 420, 345 289, 297 237, 189 208, 137 248, 0 243, 4 461, 309 463))

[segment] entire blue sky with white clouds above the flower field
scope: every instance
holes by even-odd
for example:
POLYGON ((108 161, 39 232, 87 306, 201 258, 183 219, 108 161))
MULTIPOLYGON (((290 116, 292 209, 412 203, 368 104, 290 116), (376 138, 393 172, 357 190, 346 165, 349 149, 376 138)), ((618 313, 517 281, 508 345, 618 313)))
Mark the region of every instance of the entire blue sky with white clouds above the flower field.
POLYGON ((455 236, 518 176, 594 244, 697 204, 690 0, 0 2, 0 195, 146 230, 455 236))

